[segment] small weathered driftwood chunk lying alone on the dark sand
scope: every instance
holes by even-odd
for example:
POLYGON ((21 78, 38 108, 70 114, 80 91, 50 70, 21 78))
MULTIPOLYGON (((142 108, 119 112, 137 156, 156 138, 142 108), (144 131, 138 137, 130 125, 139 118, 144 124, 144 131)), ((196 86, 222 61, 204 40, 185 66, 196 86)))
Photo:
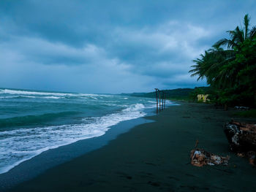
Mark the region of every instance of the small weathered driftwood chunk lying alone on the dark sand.
POLYGON ((194 149, 190 152, 191 164, 193 166, 228 164, 229 156, 222 157, 213 153, 208 153, 203 149, 194 149))

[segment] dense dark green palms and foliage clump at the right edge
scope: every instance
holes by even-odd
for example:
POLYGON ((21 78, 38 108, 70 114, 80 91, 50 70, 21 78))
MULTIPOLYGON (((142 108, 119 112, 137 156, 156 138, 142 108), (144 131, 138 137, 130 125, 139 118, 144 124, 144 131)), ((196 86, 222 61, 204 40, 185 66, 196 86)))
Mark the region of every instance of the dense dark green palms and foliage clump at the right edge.
POLYGON ((206 78, 217 104, 255 106, 256 101, 256 26, 249 28, 249 16, 244 26, 227 31, 230 39, 220 39, 194 60, 191 76, 206 78))

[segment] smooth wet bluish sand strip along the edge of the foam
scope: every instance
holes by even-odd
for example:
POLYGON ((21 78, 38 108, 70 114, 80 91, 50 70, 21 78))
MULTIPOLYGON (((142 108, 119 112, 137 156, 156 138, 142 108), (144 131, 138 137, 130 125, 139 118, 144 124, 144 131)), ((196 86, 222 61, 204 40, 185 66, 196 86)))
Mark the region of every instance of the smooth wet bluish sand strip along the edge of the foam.
MULTIPOLYGON (((152 110, 148 110, 147 115, 144 117, 152 114, 152 110)), ((0 174, 0 191, 5 191, 26 180, 31 180, 47 169, 72 161, 72 159, 80 155, 108 145, 110 140, 116 139, 119 134, 129 131, 134 126, 151 122, 151 120, 146 120, 144 117, 121 121, 114 126, 110 126, 102 136, 80 139, 67 145, 45 150, 32 158, 22 161, 8 172, 0 174)))

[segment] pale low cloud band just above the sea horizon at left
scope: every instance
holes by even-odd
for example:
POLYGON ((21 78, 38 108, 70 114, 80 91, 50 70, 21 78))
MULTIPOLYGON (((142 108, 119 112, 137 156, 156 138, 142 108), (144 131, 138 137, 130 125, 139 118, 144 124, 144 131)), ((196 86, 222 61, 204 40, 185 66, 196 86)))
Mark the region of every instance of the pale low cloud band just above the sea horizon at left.
POLYGON ((121 93, 140 91, 150 80, 141 80, 141 75, 129 72, 128 64, 108 58, 97 45, 75 48, 34 38, 11 42, 0 46, 0 82, 5 82, 6 87, 121 93))

